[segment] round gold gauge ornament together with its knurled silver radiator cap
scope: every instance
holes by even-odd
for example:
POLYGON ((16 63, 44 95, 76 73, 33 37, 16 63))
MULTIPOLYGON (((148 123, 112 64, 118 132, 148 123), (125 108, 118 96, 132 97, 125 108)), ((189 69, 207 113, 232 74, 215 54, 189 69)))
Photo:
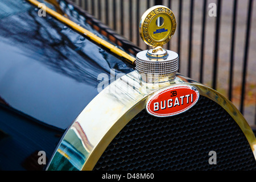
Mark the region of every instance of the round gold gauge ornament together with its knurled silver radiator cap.
POLYGON ((136 56, 135 69, 141 74, 142 81, 154 83, 175 78, 179 68, 179 56, 176 52, 163 48, 175 30, 175 16, 166 6, 153 6, 142 15, 139 34, 152 47, 138 52, 136 56))

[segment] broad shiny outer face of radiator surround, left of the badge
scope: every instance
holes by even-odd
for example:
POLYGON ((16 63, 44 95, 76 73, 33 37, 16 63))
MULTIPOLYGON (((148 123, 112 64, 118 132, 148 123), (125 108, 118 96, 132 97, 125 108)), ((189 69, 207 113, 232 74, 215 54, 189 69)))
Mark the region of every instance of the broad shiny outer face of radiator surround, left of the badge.
POLYGON ((136 71, 115 80, 94 97, 75 119, 56 148, 47 169, 63 169, 59 167, 63 166, 59 161, 59 156, 64 156, 63 154, 69 156, 69 163, 84 161, 82 166, 76 165, 76 168, 79 170, 85 168, 84 163, 93 157, 90 154, 95 151, 94 148, 98 146, 110 128, 147 94, 147 90, 141 92, 139 73, 136 71), (59 149, 62 151, 61 154, 59 149))

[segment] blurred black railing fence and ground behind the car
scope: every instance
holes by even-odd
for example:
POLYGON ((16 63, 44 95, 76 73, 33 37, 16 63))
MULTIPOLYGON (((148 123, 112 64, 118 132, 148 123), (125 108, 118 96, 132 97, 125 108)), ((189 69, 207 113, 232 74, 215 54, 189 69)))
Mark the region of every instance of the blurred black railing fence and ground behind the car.
POLYGON ((175 15, 177 28, 164 46, 179 53, 179 72, 233 102, 250 125, 256 124, 255 0, 72 0, 141 49, 142 14, 164 5, 175 15), (210 16, 216 5, 217 16, 210 16))

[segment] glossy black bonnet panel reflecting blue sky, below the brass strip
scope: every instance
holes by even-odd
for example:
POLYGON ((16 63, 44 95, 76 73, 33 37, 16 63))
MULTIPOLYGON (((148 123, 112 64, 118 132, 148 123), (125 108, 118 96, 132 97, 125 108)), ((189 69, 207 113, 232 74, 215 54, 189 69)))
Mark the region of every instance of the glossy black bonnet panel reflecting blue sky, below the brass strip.
POLYGON ((100 73, 130 69, 64 24, 39 17, 27 2, 18 6, 0 19, 0 96, 15 109, 65 129, 98 94, 100 73))

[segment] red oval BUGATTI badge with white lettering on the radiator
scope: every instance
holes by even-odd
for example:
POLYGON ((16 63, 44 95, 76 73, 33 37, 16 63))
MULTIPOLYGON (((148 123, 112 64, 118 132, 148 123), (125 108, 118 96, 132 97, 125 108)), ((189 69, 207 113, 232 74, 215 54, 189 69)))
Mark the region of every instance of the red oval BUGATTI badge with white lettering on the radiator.
POLYGON ((148 98, 146 110, 156 117, 183 113, 199 100, 199 91, 191 85, 174 85, 159 90, 148 98))

